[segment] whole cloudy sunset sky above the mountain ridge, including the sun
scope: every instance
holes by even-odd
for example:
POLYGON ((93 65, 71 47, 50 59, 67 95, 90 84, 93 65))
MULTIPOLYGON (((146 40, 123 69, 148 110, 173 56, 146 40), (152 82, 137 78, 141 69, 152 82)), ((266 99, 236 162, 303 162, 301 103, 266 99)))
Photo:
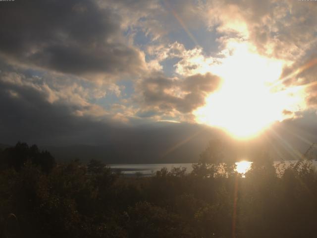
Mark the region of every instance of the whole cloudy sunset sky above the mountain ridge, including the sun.
POLYGON ((317 1, 15 0, 0 22, 1 143, 317 142, 317 1))

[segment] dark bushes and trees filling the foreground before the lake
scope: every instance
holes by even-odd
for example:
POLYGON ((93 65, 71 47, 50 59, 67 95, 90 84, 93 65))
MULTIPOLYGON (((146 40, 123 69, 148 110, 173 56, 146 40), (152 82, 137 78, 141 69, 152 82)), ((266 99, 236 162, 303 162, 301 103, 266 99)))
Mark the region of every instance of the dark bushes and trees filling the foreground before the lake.
POLYGON ((95 160, 56 164, 18 143, 0 153, 0 237, 317 237, 311 160, 276 171, 264 154, 242 178, 221 150, 211 143, 191 174, 128 178, 95 160))

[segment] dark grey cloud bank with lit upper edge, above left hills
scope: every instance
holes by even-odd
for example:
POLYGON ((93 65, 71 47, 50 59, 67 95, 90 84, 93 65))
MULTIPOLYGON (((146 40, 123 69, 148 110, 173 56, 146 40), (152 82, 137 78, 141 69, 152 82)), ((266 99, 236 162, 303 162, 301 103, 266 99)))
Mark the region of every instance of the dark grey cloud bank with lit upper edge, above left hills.
POLYGON ((93 115, 75 115, 92 110, 94 105, 78 95, 76 102, 69 102, 61 94, 65 92, 53 90, 41 78, 0 72, 0 142, 67 144, 100 140, 109 123, 93 115))

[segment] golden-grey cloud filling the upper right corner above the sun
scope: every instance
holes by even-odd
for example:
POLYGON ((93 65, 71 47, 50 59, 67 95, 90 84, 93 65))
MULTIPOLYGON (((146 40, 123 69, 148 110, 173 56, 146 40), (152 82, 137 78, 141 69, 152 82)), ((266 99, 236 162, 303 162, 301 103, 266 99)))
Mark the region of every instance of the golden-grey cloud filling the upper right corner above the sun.
POLYGON ((266 56, 293 61, 317 42, 312 1, 211 0, 206 9, 209 27, 222 33, 222 40, 247 40, 266 56))

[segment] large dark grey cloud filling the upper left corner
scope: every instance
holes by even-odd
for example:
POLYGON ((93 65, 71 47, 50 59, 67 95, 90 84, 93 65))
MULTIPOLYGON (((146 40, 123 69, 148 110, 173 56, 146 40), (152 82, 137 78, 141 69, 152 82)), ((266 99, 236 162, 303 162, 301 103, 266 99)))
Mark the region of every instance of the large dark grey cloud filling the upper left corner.
POLYGON ((77 75, 137 72, 144 60, 123 42, 120 20, 93 0, 5 2, 0 8, 0 53, 77 75))

